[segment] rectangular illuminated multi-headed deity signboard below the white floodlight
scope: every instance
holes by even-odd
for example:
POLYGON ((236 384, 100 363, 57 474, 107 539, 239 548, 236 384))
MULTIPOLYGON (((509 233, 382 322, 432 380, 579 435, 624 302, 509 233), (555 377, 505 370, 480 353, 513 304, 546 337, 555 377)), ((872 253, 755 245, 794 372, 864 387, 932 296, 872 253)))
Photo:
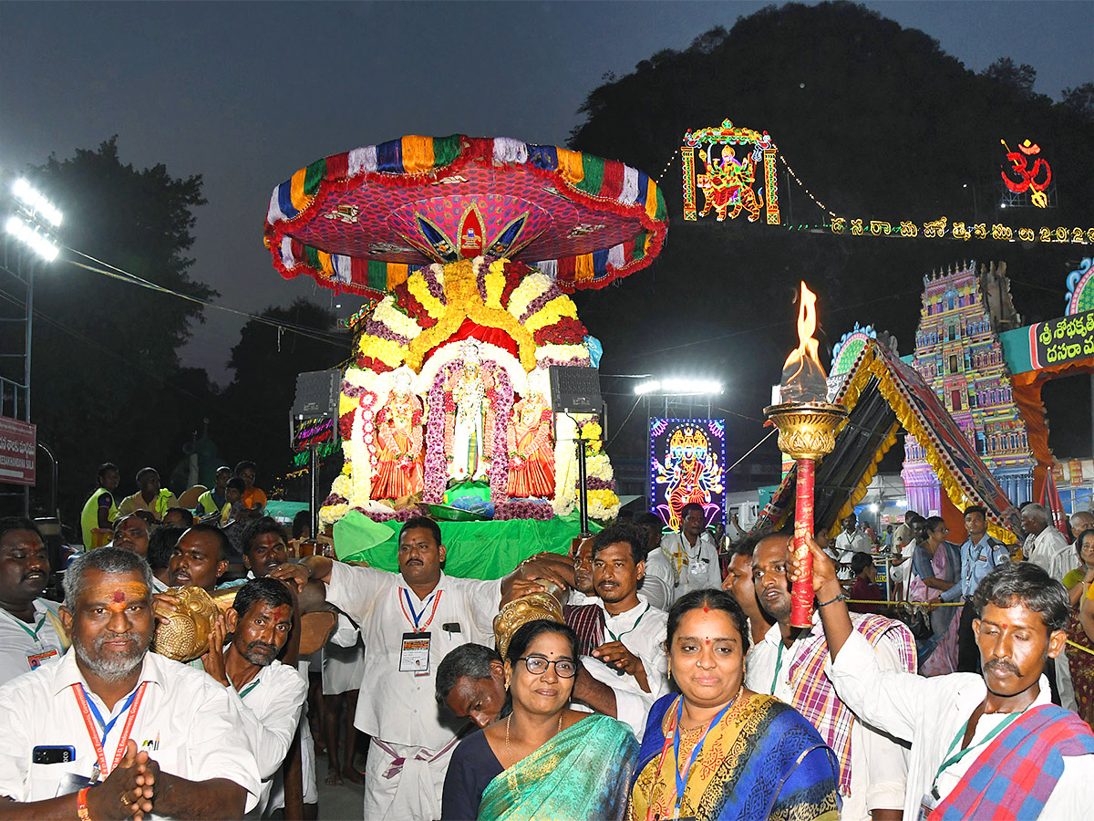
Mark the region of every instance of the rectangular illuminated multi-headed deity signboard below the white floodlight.
POLYGON ((691 501, 708 525, 725 523, 723 419, 650 419, 650 509, 670 528, 691 501))

